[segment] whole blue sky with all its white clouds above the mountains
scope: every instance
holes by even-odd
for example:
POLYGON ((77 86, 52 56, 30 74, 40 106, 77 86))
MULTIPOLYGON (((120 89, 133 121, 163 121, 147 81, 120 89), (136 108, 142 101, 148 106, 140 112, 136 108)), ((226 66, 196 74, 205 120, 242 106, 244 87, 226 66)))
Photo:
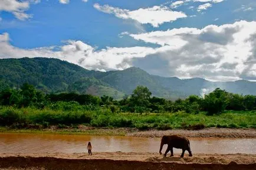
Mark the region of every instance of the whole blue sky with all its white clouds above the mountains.
POLYGON ((256 81, 255 0, 0 0, 0 58, 256 81))

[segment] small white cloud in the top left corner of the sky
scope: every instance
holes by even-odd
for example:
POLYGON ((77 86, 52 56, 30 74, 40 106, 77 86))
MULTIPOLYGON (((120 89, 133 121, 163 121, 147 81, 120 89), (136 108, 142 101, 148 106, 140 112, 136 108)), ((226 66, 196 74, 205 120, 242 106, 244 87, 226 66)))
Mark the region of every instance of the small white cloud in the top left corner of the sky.
POLYGON ((15 18, 24 21, 25 19, 32 18, 31 14, 25 13, 29 9, 29 2, 38 3, 38 1, 1 0, 0 12, 11 12, 15 18))

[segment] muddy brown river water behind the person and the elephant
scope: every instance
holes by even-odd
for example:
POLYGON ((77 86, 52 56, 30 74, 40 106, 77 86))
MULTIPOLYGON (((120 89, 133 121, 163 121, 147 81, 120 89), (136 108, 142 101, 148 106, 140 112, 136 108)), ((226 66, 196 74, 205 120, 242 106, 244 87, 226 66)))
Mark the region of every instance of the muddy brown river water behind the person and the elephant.
MULTIPOLYGON (((87 152, 88 141, 93 152, 159 152, 160 138, 130 136, 86 136, 52 134, 0 133, 0 154, 65 154, 87 152)), ((189 138, 195 154, 256 154, 256 139, 189 138)), ((162 152, 165 152, 164 145, 162 152)), ((180 149, 173 149, 181 153, 180 149)))

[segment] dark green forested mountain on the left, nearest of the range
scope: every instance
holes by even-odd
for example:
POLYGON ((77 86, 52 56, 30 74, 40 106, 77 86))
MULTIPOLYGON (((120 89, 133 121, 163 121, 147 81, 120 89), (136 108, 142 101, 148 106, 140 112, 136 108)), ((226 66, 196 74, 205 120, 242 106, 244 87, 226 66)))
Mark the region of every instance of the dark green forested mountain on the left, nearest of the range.
POLYGON ((94 78, 94 71, 54 58, 0 59, 0 89, 18 88, 25 82, 44 92, 79 92, 122 98, 105 82, 94 78))

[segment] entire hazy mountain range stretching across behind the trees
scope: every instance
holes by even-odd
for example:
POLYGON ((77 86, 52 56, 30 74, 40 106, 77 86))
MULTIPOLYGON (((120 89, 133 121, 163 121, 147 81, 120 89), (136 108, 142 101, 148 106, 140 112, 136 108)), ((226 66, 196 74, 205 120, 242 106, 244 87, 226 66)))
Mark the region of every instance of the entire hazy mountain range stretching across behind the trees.
POLYGON ((256 95, 256 83, 245 80, 211 82, 202 78, 166 78, 135 67, 123 71, 89 71, 54 58, 0 59, 0 89, 18 88, 24 82, 45 92, 75 91, 115 99, 132 94, 137 85, 147 86, 154 96, 168 99, 204 95, 218 87, 232 93, 256 95))

